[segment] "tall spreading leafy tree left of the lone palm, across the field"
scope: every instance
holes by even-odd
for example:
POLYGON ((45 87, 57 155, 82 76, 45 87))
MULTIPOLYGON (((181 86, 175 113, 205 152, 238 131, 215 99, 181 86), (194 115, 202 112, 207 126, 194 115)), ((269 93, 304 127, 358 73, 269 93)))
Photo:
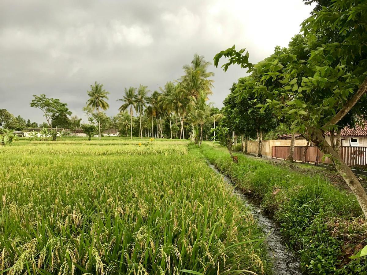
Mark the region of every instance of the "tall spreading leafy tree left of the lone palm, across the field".
POLYGON ((34 99, 30 103, 31 107, 38 108, 44 113, 48 126, 51 126, 52 116, 71 115, 68 104, 60 102, 57 98, 46 98, 45 94, 33 95, 34 99))

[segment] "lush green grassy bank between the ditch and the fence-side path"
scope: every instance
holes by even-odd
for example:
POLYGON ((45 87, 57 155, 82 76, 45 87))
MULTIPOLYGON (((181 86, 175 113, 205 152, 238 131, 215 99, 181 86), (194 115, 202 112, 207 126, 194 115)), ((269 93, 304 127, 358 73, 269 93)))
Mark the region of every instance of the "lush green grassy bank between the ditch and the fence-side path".
POLYGON ((367 274, 365 258, 349 260, 367 238, 367 223, 353 194, 322 175, 292 172, 241 153, 234 164, 226 148, 212 143, 204 143, 201 151, 274 215, 306 274, 367 274))

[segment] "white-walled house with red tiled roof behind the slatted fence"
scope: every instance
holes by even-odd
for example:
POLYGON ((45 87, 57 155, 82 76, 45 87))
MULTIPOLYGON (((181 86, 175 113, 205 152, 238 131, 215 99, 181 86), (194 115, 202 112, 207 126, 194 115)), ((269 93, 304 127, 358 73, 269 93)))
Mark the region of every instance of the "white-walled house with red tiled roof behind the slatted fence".
MULTIPOLYGON (((340 136, 341 146, 367 146, 367 121, 361 126, 356 126, 356 128, 343 128, 340 136)), ((330 132, 326 133, 325 139, 330 144, 330 132)))

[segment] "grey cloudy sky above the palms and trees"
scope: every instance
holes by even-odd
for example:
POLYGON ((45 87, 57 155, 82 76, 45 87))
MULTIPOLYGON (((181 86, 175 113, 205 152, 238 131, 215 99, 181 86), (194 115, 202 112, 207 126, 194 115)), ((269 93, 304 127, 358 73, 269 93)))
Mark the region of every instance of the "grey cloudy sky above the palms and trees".
MULTIPOLYGON (((302 0, 0 1, 0 109, 43 122, 29 106, 33 94, 82 107, 90 84, 109 91, 108 115, 118 111, 124 87, 154 91, 182 76, 193 54, 212 61, 236 44, 257 62, 287 46, 312 7, 302 0)), ((221 107, 245 75, 238 66, 215 73, 210 101, 221 107)))

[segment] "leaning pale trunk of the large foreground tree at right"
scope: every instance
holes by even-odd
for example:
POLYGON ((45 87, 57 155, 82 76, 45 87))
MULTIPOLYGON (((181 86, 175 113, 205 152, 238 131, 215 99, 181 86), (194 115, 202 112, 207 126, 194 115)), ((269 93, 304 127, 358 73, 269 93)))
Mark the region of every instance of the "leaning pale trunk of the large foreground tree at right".
POLYGON ((343 177, 346 184, 348 184, 349 188, 352 190, 353 194, 356 196, 359 205, 364 213, 364 216, 367 218, 367 194, 358 181, 357 177, 353 174, 352 170, 350 170, 349 166, 342 161, 341 157, 338 153, 333 149, 333 147, 328 144, 323 136, 323 133, 320 130, 316 130, 314 132, 314 140, 315 144, 325 153, 330 154, 335 162, 335 168, 338 170, 339 174, 343 177))

